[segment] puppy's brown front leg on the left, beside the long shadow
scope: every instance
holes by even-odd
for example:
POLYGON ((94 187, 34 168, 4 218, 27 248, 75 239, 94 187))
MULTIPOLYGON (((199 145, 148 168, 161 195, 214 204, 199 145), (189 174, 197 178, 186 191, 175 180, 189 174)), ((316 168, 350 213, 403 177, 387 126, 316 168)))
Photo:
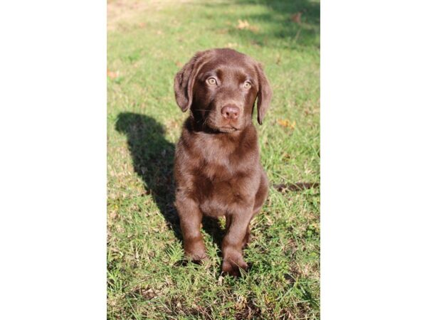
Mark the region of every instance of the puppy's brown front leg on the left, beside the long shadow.
POLYGON ((206 250, 200 232, 202 213, 198 204, 186 196, 176 196, 176 209, 184 238, 184 252, 195 262, 206 260, 206 250))

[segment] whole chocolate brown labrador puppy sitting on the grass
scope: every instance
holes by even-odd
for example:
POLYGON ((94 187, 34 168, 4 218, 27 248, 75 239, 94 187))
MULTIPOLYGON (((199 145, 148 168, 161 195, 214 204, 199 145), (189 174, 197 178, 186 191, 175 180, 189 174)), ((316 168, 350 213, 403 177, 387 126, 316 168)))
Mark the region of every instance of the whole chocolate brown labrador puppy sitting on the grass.
POLYGON ((191 260, 206 259, 202 215, 226 216, 222 270, 247 270, 242 248, 249 223, 267 198, 252 114, 263 122, 271 89, 261 65, 231 49, 196 53, 174 80, 176 103, 190 115, 176 145, 176 209, 191 260))

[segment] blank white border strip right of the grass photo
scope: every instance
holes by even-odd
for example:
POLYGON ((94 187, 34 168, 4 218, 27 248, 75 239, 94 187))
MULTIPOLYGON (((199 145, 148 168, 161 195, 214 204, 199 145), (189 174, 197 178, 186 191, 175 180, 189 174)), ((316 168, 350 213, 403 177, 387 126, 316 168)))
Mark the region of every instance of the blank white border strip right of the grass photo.
POLYGON ((322 319, 426 316, 425 13, 322 0, 322 319))

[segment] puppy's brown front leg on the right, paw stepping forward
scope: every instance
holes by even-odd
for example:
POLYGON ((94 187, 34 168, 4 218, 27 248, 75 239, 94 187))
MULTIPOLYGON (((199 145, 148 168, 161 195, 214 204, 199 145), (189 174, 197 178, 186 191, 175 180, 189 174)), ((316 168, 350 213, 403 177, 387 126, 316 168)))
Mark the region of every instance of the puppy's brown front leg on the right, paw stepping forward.
POLYGON ((241 208, 227 215, 228 230, 222 244, 223 272, 238 276, 239 268, 248 270, 248 264, 243 260, 242 247, 251 218, 251 207, 241 208))

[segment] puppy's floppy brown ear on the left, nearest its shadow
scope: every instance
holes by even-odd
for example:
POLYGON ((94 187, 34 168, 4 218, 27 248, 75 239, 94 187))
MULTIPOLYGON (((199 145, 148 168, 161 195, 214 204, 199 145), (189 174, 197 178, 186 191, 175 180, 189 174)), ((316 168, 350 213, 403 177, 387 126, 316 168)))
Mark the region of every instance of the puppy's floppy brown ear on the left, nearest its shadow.
POLYGON ((206 63, 206 53, 202 51, 196 53, 188 63, 182 67, 179 73, 176 73, 174 80, 175 100, 182 112, 186 112, 193 101, 193 85, 197 73, 206 63))

